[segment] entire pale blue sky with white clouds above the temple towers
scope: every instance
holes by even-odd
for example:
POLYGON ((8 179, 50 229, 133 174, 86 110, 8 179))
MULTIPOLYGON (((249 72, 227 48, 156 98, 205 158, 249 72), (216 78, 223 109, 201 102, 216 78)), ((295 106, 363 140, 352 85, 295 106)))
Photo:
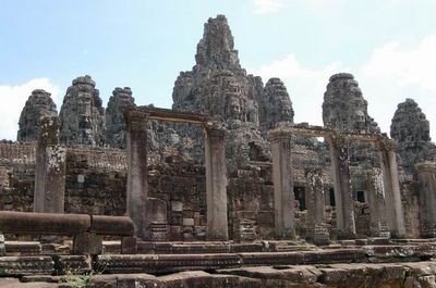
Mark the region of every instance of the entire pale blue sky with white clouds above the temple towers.
POLYGON ((370 114, 389 130, 414 98, 436 140, 436 1, 433 0, 3 0, 0 7, 0 139, 15 139, 31 91, 60 110, 71 80, 89 74, 106 105, 129 86, 137 104, 170 108, 180 71, 194 65, 210 16, 225 14, 241 65, 283 79, 296 122, 322 124, 328 77, 350 72, 370 114))

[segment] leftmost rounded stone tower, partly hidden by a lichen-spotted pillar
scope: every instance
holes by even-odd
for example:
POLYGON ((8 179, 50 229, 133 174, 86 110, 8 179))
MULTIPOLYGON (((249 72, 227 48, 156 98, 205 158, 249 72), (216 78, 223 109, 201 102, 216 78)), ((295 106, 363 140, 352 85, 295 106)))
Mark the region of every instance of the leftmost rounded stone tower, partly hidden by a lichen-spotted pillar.
POLYGON ((20 115, 17 141, 36 141, 38 139, 39 120, 44 116, 57 116, 56 104, 45 90, 33 90, 20 115))

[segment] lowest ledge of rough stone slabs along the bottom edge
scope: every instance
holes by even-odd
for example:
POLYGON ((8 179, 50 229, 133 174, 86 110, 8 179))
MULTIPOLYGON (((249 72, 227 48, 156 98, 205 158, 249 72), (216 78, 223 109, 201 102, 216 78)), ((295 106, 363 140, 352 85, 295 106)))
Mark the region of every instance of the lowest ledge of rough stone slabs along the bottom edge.
MULTIPOLYGON (((189 271, 168 275, 111 274, 85 275, 82 279, 95 288, 412 288, 435 287, 436 263, 353 263, 325 265, 256 266, 217 270, 213 272, 189 271)), ((1 287, 72 287, 72 276, 23 277, 1 280, 1 287), (41 283, 45 279, 46 283, 41 283), (9 283, 9 286, 2 286, 9 283), (14 284, 15 286, 12 286, 14 284), (40 285, 40 286, 37 286, 40 285)), ((78 278, 80 279, 80 278, 78 278)))

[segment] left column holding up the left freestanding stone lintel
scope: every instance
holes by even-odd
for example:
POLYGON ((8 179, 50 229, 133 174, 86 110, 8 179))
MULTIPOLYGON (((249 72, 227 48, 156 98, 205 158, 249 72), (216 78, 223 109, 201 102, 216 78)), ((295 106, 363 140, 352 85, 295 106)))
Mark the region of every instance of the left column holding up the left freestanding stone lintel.
POLYGON ((147 129, 141 111, 126 113, 128 193, 126 210, 135 227, 135 236, 149 237, 145 221, 147 201, 147 129))

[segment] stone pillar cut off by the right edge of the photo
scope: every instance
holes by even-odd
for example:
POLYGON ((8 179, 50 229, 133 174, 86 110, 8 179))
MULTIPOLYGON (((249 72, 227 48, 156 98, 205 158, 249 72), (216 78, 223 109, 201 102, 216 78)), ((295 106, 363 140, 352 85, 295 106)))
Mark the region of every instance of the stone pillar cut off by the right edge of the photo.
POLYGON ((421 237, 436 237, 436 162, 421 162, 416 164, 417 180, 420 183, 420 222, 421 237))

